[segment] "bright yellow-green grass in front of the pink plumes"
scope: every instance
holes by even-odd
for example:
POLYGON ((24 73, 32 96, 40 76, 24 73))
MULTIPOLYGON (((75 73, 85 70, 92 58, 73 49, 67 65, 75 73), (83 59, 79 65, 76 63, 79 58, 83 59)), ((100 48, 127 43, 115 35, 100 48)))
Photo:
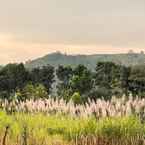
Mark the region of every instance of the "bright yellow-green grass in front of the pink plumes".
POLYGON ((122 142, 132 139, 138 141, 144 135, 144 124, 133 116, 96 120, 94 117, 73 118, 43 113, 7 114, 0 111, 0 140, 3 145, 68 145, 87 137, 122 142))

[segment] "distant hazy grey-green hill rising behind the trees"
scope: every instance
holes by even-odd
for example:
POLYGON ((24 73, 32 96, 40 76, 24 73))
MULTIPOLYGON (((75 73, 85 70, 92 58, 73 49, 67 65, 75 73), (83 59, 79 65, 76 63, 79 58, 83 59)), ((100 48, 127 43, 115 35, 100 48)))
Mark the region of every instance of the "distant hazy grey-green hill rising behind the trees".
POLYGON ((45 66, 47 64, 53 66, 58 66, 59 64, 71 66, 83 64, 90 69, 94 69, 96 63, 100 61, 111 61, 126 66, 143 65, 145 64, 145 54, 128 53, 128 54, 65 55, 60 52, 56 52, 32 61, 28 61, 26 62, 25 66, 31 69, 34 67, 45 66))

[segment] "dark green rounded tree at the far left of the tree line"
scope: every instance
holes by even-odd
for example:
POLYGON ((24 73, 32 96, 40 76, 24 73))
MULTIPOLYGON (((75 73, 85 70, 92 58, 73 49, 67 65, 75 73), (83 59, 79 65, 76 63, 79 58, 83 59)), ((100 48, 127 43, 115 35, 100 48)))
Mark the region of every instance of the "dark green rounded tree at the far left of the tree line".
POLYGON ((28 72, 24 65, 8 64, 0 70, 0 94, 9 98, 17 88, 23 88, 28 81, 28 72))

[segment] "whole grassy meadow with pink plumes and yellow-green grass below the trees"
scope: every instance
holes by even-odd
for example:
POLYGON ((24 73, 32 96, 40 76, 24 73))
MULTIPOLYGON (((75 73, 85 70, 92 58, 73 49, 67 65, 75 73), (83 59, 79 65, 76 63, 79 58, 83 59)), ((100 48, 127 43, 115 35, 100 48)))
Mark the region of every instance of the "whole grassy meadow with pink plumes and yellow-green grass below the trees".
POLYGON ((143 145, 145 99, 0 101, 2 145, 143 145))

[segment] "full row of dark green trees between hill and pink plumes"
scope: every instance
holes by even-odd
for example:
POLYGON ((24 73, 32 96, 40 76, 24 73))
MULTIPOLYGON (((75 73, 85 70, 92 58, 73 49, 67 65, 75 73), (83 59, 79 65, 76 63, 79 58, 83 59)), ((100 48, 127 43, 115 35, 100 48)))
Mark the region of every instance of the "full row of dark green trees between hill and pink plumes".
POLYGON ((36 99, 63 97, 77 102, 129 94, 145 96, 145 66, 99 62, 94 71, 84 65, 51 65, 27 70, 23 63, 8 64, 0 70, 0 98, 36 99), (56 87, 53 87, 53 84, 56 87), (56 92, 54 94, 54 92, 56 92))

